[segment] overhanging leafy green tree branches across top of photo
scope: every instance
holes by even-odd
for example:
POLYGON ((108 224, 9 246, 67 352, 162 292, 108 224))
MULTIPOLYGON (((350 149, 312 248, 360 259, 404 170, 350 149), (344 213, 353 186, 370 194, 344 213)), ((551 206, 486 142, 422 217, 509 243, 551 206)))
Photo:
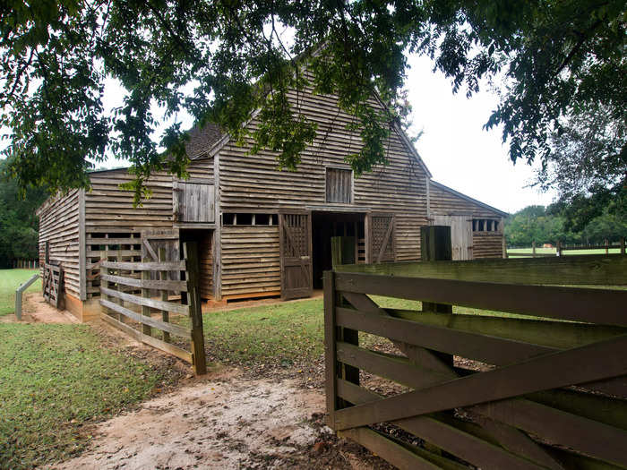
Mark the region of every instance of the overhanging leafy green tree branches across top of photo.
POLYGON ((470 96, 482 79, 498 86, 502 100, 485 125, 502 125, 514 162, 547 161, 553 132, 592 104, 613 125, 625 121, 619 0, 13 0, 0 14, 0 124, 12 130, 10 171, 21 188, 85 186, 107 151, 131 160, 138 197, 157 168, 185 175, 176 122, 184 109, 295 169, 316 126, 288 90, 306 86, 335 93, 355 116, 349 125, 364 147, 347 161, 359 175, 386 163, 383 141, 407 115, 407 53, 432 56, 454 91, 470 96), (128 90, 112 114, 102 102, 107 77, 128 90), (373 92, 385 109, 368 106, 373 92), (157 141, 153 104, 171 120, 157 141), (255 109, 261 125, 246 136, 241 124, 255 109))

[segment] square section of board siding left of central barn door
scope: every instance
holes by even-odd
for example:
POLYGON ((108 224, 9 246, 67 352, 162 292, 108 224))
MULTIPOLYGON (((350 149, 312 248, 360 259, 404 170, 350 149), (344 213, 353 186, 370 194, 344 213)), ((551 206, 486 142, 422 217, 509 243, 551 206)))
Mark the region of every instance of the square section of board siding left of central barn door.
POLYGON ((280 289, 279 226, 223 226, 222 295, 280 289))

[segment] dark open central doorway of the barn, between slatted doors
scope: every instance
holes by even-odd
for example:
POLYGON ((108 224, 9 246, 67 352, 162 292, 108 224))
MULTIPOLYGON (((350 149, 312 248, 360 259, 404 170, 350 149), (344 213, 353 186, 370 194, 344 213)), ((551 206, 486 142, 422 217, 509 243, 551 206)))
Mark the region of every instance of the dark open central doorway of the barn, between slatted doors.
POLYGON ((350 212, 313 212, 313 271, 314 289, 322 289, 324 271, 332 268, 331 238, 355 237, 356 263, 365 262, 365 214, 350 212))

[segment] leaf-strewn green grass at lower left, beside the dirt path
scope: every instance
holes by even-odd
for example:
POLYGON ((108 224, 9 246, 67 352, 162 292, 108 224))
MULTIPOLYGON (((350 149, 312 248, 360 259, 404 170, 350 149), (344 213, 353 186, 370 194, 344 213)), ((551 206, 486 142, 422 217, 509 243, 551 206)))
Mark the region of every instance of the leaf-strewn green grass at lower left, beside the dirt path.
POLYGON ((147 397, 159 373, 104 349, 84 325, 0 324, 0 468, 82 450, 82 426, 147 397))

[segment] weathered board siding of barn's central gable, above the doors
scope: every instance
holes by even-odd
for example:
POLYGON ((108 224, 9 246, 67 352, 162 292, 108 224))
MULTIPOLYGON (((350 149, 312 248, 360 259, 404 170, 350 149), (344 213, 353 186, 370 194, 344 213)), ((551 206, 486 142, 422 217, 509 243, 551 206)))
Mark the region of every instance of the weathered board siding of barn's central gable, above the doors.
MULTIPOLYGON (((298 171, 279 171, 273 152, 262 150, 257 155, 247 154, 252 142, 244 147, 228 142, 219 151, 221 212, 341 206, 356 211, 393 213, 399 218, 397 259, 418 260, 419 226, 427 224, 426 175, 401 136, 392 132, 387 142, 388 166, 376 166, 372 173, 354 179, 351 204, 327 202, 326 167, 348 168, 344 158, 361 150, 361 137, 358 132, 346 129, 352 118, 339 110, 336 98, 301 93, 297 104, 296 93, 292 98, 294 107, 318 125, 313 144, 301 153, 298 171)), ((372 105, 380 106, 374 99, 372 105)), ((254 130, 257 125, 258 121, 253 119, 249 127, 254 130)), ((227 241, 222 235, 222 242, 227 241)))

